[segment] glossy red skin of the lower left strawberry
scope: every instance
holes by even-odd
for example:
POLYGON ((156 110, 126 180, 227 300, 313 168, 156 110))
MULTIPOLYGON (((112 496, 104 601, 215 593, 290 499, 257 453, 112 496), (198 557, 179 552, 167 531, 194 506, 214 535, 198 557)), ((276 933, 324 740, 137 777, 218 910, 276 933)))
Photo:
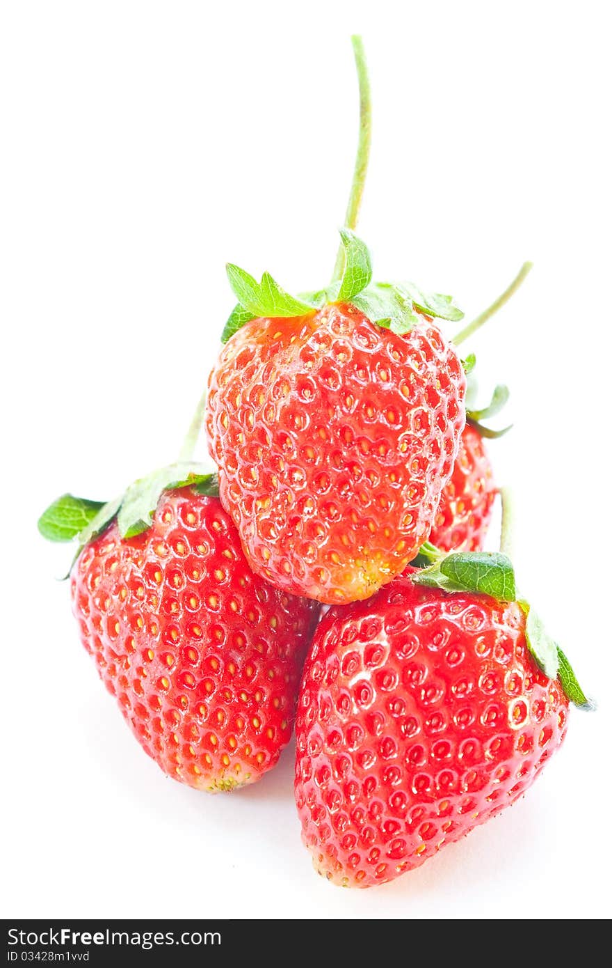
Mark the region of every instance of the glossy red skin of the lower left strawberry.
POLYGON ((276 764, 315 610, 252 574, 219 499, 168 492, 130 540, 112 524, 71 588, 85 649, 165 773, 216 792, 276 764))

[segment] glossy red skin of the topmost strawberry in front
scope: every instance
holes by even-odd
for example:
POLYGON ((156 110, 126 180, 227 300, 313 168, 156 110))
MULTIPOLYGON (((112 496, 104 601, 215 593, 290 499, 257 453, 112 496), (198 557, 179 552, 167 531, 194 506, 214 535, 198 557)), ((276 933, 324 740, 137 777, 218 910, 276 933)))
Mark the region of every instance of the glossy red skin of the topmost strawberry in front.
POLYGON ((206 428, 253 570, 328 603, 392 581, 429 535, 464 397, 429 318, 406 336, 346 304, 248 322, 211 375, 206 428))

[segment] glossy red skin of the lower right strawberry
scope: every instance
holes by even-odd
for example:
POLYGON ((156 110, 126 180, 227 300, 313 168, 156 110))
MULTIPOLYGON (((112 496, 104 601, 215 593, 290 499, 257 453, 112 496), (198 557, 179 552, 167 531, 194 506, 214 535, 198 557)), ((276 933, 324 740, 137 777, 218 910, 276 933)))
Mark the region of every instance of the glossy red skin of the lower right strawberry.
POLYGON ((525 617, 413 585, 332 608, 306 659, 295 792, 317 871, 393 880, 522 796, 564 740, 568 700, 525 617))

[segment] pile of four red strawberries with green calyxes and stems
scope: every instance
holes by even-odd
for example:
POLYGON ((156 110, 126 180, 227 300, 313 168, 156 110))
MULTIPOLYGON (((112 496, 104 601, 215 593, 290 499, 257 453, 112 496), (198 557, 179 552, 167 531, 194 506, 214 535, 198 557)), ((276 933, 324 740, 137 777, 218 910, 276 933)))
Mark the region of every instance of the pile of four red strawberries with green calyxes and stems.
POLYGON ((78 542, 83 645, 161 769, 233 790, 295 723, 315 866, 368 887, 514 802, 569 702, 590 704, 508 556, 481 550, 482 437, 499 435, 481 420, 507 391, 466 405, 475 361, 456 347, 497 306, 452 340, 449 296, 373 283, 359 177, 330 287, 292 296, 228 266, 238 304, 194 424, 216 470, 190 434, 176 464, 106 503, 64 495, 39 527, 78 542))

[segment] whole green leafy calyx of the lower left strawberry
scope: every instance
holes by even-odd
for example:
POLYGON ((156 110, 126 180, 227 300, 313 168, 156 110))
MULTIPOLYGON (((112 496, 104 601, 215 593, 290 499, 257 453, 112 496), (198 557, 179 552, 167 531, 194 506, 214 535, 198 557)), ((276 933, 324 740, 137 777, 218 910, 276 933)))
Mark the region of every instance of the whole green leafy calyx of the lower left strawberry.
POLYGON ((77 541, 78 552, 117 520, 122 538, 129 539, 149 529, 165 491, 191 487, 198 494, 219 497, 219 481, 202 464, 178 461, 154 470, 108 501, 76 498, 72 494, 54 500, 39 518, 38 528, 48 541, 77 541))

